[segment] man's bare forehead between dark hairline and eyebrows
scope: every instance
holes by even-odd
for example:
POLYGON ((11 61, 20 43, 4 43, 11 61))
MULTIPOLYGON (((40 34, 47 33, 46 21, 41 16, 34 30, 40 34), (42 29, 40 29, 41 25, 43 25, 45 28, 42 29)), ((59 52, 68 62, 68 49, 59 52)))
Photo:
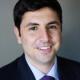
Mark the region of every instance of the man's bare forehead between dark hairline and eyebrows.
POLYGON ((46 23, 48 21, 59 21, 57 12, 53 11, 50 8, 42 8, 36 11, 26 12, 22 17, 22 22, 42 22, 46 23))

